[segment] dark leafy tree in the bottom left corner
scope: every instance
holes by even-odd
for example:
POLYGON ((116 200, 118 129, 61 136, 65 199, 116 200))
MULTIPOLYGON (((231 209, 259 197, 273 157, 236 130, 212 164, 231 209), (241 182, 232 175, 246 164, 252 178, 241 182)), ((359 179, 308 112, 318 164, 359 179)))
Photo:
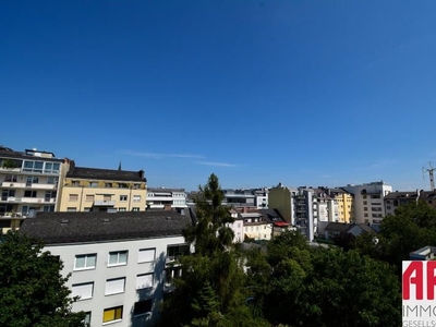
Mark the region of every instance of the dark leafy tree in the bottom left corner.
POLYGON ((83 327, 84 314, 71 312, 62 263, 41 243, 10 231, 1 235, 0 257, 0 326, 83 327))

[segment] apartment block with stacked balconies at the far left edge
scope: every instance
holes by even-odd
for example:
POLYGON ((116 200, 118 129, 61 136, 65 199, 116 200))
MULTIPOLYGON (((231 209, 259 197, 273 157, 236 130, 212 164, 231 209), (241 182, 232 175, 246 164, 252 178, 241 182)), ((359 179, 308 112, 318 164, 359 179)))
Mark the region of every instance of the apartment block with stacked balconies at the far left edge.
POLYGON ((16 229, 37 211, 58 210, 59 181, 66 169, 65 160, 52 153, 0 147, 0 229, 16 229))

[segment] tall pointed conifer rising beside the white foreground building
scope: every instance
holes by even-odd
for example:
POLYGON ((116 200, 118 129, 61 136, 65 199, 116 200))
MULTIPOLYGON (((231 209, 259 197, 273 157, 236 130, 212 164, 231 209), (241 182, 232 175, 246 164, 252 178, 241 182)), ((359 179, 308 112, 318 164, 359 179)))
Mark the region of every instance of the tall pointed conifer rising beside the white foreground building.
POLYGON ((223 192, 210 174, 195 197, 196 223, 183 235, 195 253, 181 258, 182 277, 162 304, 162 326, 261 326, 246 300, 244 259, 235 251, 230 208, 222 206, 223 192))

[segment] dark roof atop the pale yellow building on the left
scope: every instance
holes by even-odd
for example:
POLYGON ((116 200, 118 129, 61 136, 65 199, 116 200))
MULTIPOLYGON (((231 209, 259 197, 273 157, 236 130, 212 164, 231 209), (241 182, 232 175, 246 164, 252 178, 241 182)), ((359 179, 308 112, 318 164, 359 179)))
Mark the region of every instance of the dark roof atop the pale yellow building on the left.
POLYGON ((144 171, 128 171, 117 169, 99 169, 87 167, 70 167, 66 178, 85 180, 106 180, 123 182, 146 182, 144 171))

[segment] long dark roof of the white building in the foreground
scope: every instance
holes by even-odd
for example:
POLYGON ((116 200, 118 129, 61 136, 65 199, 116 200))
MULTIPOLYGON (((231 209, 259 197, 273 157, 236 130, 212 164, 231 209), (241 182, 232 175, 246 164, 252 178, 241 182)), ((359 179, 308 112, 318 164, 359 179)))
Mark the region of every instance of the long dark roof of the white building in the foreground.
POLYGON ((20 231, 58 244, 181 235, 190 223, 175 211, 38 213, 20 231))

